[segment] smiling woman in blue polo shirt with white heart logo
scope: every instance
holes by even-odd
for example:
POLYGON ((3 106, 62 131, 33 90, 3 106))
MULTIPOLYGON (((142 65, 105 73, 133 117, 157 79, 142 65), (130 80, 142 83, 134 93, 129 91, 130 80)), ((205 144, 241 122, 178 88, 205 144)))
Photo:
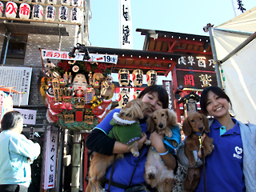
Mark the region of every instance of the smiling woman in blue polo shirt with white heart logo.
MULTIPOLYGON (((214 117, 208 134, 214 139, 214 150, 205 163, 207 192, 256 191, 256 126, 230 116, 230 98, 218 86, 202 91, 200 106, 203 114, 214 117)), ((177 155, 182 166, 188 166, 182 145, 177 155)), ((194 156, 196 166, 201 166, 201 151, 194 156)), ((203 172, 196 191, 205 191, 203 172)))

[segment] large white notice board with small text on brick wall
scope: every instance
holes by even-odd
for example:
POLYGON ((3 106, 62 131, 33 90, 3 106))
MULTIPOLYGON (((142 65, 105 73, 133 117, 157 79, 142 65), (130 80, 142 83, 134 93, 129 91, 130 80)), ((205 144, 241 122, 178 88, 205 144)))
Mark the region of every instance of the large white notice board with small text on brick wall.
POLYGON ((27 106, 30 94, 32 67, 0 66, 0 85, 23 94, 13 94, 14 106, 27 106))

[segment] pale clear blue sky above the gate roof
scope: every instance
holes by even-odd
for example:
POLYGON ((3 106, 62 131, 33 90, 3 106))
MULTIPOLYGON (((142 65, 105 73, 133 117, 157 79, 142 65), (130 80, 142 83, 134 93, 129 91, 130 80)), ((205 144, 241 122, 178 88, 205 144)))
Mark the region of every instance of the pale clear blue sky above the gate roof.
MULTIPOLYGON (((242 4, 250 10, 256 1, 242 4)), ((118 5, 118 0, 91 0, 91 46, 119 48, 118 5)), ((207 23, 218 26, 234 18, 232 0, 130 0, 130 8, 134 50, 142 50, 145 38, 135 31, 138 28, 208 35, 202 30, 207 23)))

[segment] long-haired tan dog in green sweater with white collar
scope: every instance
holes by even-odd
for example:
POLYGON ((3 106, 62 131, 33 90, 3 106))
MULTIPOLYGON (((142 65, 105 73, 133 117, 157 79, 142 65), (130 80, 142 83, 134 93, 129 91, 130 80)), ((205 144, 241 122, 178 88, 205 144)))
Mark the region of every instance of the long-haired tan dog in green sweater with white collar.
MULTIPOLYGON (((113 129, 108 136, 115 138, 118 142, 129 145, 130 152, 134 157, 139 156, 138 139, 142 137, 142 129, 139 126, 138 119, 143 118, 145 110, 150 108, 150 104, 142 102, 141 99, 135 98, 127 102, 120 113, 114 113, 110 124, 113 129)), ((145 144, 150 145, 150 141, 146 140, 145 144)), ((117 154, 117 159, 123 158, 123 154, 117 154)), ((89 182, 86 192, 101 192, 102 180, 106 174, 106 169, 114 162, 114 154, 105 155, 95 153, 89 168, 89 182)))

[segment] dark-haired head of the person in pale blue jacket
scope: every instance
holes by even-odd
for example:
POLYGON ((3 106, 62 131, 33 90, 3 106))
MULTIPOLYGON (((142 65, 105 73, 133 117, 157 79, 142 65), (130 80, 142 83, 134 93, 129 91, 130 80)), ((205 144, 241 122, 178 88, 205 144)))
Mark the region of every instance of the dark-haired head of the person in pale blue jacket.
POLYGON ((1 121, 1 129, 2 130, 10 130, 13 129, 17 122, 22 119, 22 114, 18 111, 9 111, 7 112, 1 121))

